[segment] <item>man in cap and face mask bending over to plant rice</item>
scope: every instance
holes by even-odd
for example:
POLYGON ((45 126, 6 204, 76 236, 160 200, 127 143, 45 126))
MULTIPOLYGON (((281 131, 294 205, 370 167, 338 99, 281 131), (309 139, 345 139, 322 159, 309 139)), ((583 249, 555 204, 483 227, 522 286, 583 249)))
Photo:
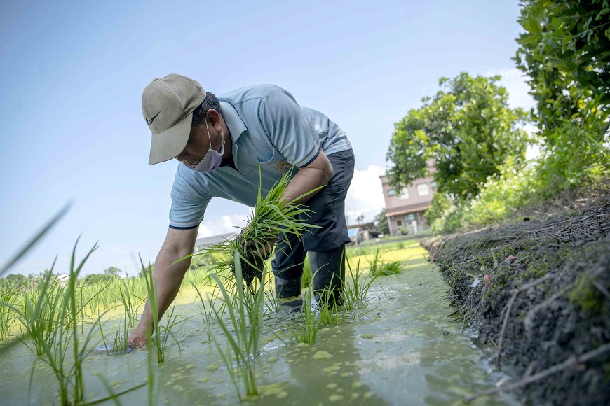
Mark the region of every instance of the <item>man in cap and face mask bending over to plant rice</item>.
MULTIPOLYGON (((153 276, 159 318, 175 299, 193 253, 198 226, 212 197, 255 205, 259 183, 266 194, 285 172, 292 179, 284 198, 311 209, 318 225, 301 236, 280 235, 272 261, 278 297, 301 293, 309 252, 314 293, 339 297, 344 280, 344 244, 350 241, 344 200, 354 156, 346 134, 322 113, 301 108, 280 87, 245 87, 216 97, 195 80, 170 74, 156 78, 142 94, 142 114, 152 133, 149 165, 176 158, 170 225, 153 276), (259 176, 260 168, 260 176, 259 176), (324 186, 317 193, 301 197, 324 186), (300 198, 299 198, 300 197, 300 198), (174 265, 172 265, 174 264, 174 265), (318 270, 319 269, 319 270, 318 270)), ((146 344, 152 325, 149 301, 129 336, 130 346, 146 344)))

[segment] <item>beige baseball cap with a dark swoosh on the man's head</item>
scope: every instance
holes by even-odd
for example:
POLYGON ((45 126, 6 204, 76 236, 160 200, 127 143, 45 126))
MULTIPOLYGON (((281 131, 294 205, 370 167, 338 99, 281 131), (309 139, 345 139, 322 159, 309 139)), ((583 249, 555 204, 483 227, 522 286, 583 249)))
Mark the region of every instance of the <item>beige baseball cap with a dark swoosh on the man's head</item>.
POLYGON ((171 73, 155 78, 142 93, 142 116, 152 141, 148 165, 176 158, 191 134, 193 111, 205 99, 205 90, 186 76, 171 73))

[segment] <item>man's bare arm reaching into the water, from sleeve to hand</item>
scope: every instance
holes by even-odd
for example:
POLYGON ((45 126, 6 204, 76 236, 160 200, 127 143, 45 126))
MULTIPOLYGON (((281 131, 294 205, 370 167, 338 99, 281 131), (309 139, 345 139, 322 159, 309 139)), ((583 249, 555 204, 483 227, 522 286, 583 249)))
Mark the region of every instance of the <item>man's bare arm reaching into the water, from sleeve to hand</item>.
MULTIPOLYGON (((176 298, 184 274, 187 273, 191 265, 191 258, 174 265, 172 263, 193 253, 198 229, 198 227, 189 230, 170 228, 168 235, 165 236, 165 241, 157 255, 153 269, 153 278, 156 282, 158 296, 159 320, 176 298)), ((150 297, 147 297, 140 323, 128 337, 131 348, 140 348, 146 345, 147 328, 150 328, 151 332, 153 330, 153 314, 149 300, 150 297)))

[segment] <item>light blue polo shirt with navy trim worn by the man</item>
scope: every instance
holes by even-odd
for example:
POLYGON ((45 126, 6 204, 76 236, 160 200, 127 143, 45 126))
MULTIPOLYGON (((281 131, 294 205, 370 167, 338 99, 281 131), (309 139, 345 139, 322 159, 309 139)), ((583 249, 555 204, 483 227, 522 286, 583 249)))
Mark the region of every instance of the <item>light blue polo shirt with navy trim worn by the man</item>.
POLYGON ((280 87, 244 87, 218 99, 237 170, 224 166, 200 174, 180 163, 172 186, 170 228, 196 228, 212 197, 254 207, 259 182, 266 195, 287 170, 294 165, 294 176, 320 149, 326 155, 351 149, 338 125, 319 111, 301 108, 280 87))

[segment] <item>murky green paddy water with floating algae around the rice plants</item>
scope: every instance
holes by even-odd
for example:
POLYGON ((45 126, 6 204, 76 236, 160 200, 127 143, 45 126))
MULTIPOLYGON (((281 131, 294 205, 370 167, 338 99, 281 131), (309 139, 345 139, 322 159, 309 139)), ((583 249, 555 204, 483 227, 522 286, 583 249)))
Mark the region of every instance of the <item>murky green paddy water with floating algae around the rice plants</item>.
MULTIPOLYGON (((464 395, 482 391, 503 376, 495 371, 461 325, 447 317, 447 286, 411 247, 386 259, 406 259, 398 276, 373 284, 364 316, 322 328, 316 344, 283 344, 271 330, 291 339, 287 325, 294 314, 272 314, 264 324, 262 353, 257 363, 260 405, 452 405, 464 395)), ((365 263, 363 260, 362 263, 365 263)), ((170 405, 236 404, 235 388, 214 344, 205 338, 198 304, 180 304, 177 328, 182 350, 171 346, 164 365, 154 365, 156 402, 170 405)), ((294 325, 293 325, 294 328, 294 325)), ((219 341, 223 337, 213 328, 219 341)), ((0 404, 48 405, 57 402, 57 384, 46 365, 32 369, 34 356, 22 344, 1 353, 0 404), (33 371, 33 372, 32 372, 33 371), (33 373, 32 388, 28 391, 33 373), (28 395, 29 392, 29 395, 28 395)), ((94 351, 84 366, 86 398, 94 400, 124 391, 147 379, 146 351, 107 356, 94 351)), ((240 390, 243 388, 240 385, 240 390)), ((148 402, 147 388, 120 398, 124 404, 148 402)), ((480 403, 513 405, 508 395, 480 403)))

